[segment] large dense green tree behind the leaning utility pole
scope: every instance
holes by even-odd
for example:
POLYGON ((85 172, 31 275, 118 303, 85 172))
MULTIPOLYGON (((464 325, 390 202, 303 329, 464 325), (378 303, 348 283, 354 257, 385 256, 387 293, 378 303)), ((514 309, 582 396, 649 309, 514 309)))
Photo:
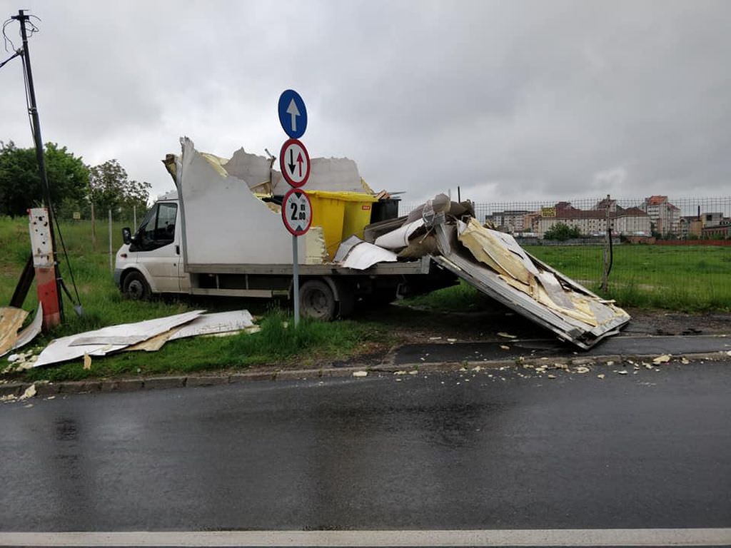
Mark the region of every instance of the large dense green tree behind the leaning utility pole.
MULTIPOLYGON (((47 142, 43 153, 54 207, 64 200, 82 201, 88 194, 88 167, 81 157, 54 142, 47 142)), ((23 216, 42 202, 35 148, 0 141, 0 214, 23 216)))

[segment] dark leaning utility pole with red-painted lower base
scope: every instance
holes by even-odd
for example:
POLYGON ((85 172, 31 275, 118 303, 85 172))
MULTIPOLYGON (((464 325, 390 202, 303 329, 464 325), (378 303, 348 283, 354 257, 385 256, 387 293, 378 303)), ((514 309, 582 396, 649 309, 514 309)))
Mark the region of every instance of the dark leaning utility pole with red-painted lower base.
POLYGON ((53 208, 50 201, 50 186, 48 186, 48 174, 45 169, 45 158, 43 156, 43 140, 41 139, 41 126, 38 118, 38 107, 36 103, 36 91, 33 85, 33 72, 31 71, 31 53, 28 47, 28 31, 26 23, 30 16, 26 15, 24 9, 18 9, 18 15, 13 15, 20 23, 20 37, 23 39, 23 66, 28 85, 29 115, 33 126, 33 139, 36 145, 36 159, 38 161, 38 172, 43 187, 45 207, 48 208, 48 232, 52 254, 50 265, 36 265, 36 279, 38 287, 38 298, 43 305, 43 328, 48 330, 61 323, 64 319, 64 307, 61 305, 61 273, 58 270, 56 258, 56 236, 53 230, 53 208))

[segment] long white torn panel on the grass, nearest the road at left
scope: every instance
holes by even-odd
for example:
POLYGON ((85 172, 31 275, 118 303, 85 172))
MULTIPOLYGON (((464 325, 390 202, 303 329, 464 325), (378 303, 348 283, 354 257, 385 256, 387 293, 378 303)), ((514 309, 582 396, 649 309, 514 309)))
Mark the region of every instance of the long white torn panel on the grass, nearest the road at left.
POLYGON ((167 316, 165 318, 157 318, 145 321, 138 321, 135 324, 119 324, 109 327, 102 327, 100 330, 89 331, 86 333, 77 333, 60 339, 52 340, 48 346, 43 349, 34 367, 41 365, 49 365, 52 363, 65 362, 69 359, 82 357, 84 354, 89 356, 104 356, 110 352, 124 349, 127 344, 115 344, 119 337, 139 338, 145 340, 162 332, 173 329, 178 325, 186 324, 196 319, 204 311, 192 311, 175 316, 167 316), (105 340, 106 338, 106 340, 105 340), (95 344, 75 345, 77 339, 95 340, 95 344))

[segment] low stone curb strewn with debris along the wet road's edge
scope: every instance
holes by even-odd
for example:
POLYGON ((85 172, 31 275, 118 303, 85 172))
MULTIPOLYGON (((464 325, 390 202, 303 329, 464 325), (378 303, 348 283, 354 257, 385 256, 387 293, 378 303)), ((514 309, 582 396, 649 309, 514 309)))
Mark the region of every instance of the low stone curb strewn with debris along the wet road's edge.
MULTIPOLYGON (((484 369, 501 368, 511 365, 613 365, 610 362, 638 362, 656 357, 655 354, 645 355, 618 355, 607 354, 604 356, 591 357, 523 357, 514 359, 491 359, 488 361, 465 360, 462 362, 414 362, 401 365, 384 363, 382 365, 354 365, 343 368, 319 368, 319 369, 288 369, 276 371, 252 371, 227 373, 225 375, 189 375, 189 376, 155 376, 147 378, 118 378, 88 381, 62 381, 49 382, 39 381, 36 383, 18 382, 0 384, 0 397, 8 397, 5 403, 18 401, 20 395, 29 387, 35 384, 37 397, 48 397, 57 394, 89 394, 94 392, 134 392, 137 390, 159 390, 172 388, 194 388, 221 386, 223 384, 239 384, 259 381, 300 381, 311 378, 336 378, 352 377, 357 371, 368 371, 369 373, 395 373, 396 371, 418 370, 420 373, 436 373, 458 371, 461 368, 480 367, 484 369), (10 398, 12 396, 12 398, 10 398)), ((717 359, 731 359, 725 351, 714 351, 705 353, 677 354, 672 361, 680 359, 689 361, 716 361, 717 359)), ((667 364, 662 364, 667 365, 667 364)))

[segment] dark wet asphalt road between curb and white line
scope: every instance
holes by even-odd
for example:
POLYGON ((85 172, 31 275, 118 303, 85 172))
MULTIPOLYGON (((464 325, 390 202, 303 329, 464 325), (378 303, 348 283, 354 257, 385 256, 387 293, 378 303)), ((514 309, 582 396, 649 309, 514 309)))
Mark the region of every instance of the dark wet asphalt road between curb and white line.
POLYGON ((6 404, 0 530, 731 525, 731 363, 518 373, 6 404))

